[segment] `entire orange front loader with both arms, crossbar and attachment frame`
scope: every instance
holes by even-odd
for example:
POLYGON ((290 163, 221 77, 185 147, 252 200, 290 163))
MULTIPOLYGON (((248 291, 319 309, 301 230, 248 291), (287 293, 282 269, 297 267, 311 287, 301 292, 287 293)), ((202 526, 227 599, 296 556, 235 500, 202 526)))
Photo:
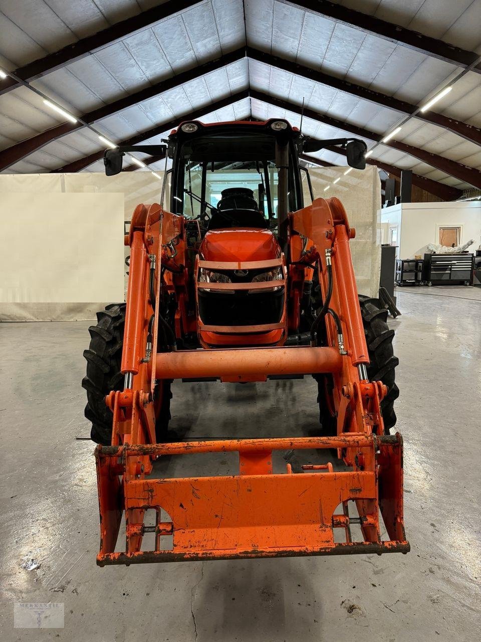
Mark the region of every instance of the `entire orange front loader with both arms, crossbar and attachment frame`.
MULTIPOLYGON (((369 356, 349 249, 355 232, 341 202, 317 199, 290 214, 289 239, 304 239, 301 256, 291 256, 291 282, 303 260, 316 260, 326 297, 332 275, 330 308, 342 325, 342 345, 329 316, 323 345, 160 351, 159 301, 165 286, 160 266, 174 260, 173 247, 179 269, 169 287, 178 297, 189 296, 186 270, 180 264, 183 224, 182 217, 159 205, 139 205, 126 238, 132 250, 122 357, 126 386, 106 397, 114 415, 112 446, 96 449, 101 519, 97 564, 407 553, 403 444, 398 433, 384 435, 380 401, 387 389, 366 377, 369 356), (332 260, 330 270, 327 257, 332 260), (149 283, 152 272, 155 287, 149 283), (152 315, 154 331, 149 338, 152 315), (151 356, 146 358, 144 346, 149 341, 151 356), (162 381, 189 377, 262 381, 296 374, 333 377, 337 435, 155 442, 156 386, 162 381), (303 473, 294 473, 290 464, 285 473, 273 472, 273 451, 305 449, 337 449, 345 466, 338 471, 330 463, 307 462, 303 473), (238 474, 153 476, 157 458, 221 452, 239 453, 238 474), (350 505, 355 506, 355 516, 350 505), (155 512, 155 525, 145 523, 148 511, 155 512), (119 550, 122 516, 125 546, 119 550), (351 533, 353 525, 360 526, 357 540, 351 533), (335 541, 335 534, 341 534, 343 541, 335 541), (165 538, 171 546, 165 546, 165 538)), ((291 243, 291 254, 295 247, 291 243)), ((187 304, 180 308, 176 328, 192 327, 195 319, 187 318, 187 304)))

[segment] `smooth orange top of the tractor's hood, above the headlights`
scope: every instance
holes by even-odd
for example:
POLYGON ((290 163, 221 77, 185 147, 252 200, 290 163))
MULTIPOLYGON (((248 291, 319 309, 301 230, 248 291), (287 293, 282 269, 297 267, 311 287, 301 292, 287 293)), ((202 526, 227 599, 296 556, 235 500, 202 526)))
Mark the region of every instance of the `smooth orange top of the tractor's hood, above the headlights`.
POLYGON ((266 261, 280 257, 281 250, 269 230, 234 227, 207 232, 200 254, 205 261, 266 261))

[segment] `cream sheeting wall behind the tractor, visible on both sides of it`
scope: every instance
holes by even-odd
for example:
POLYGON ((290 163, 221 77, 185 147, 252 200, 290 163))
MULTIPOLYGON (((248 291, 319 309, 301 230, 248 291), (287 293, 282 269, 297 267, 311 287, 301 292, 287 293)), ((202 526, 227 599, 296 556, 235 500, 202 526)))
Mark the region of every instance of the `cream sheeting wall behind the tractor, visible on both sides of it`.
MULTIPOLYGON (((378 173, 375 168, 353 169, 348 175, 344 171, 310 168, 314 195, 338 196, 346 207, 356 228, 351 252, 358 290, 376 296, 378 173), (324 191, 326 186, 330 187, 324 191)), ((306 182, 303 187, 308 204, 306 182)), ((0 320, 90 319, 104 303, 122 300, 122 263, 129 251, 123 245, 124 223, 137 204, 160 202, 161 195, 162 180, 149 171, 115 177, 86 172, 0 175, 0 320), (99 274, 105 278, 99 279, 99 274)))

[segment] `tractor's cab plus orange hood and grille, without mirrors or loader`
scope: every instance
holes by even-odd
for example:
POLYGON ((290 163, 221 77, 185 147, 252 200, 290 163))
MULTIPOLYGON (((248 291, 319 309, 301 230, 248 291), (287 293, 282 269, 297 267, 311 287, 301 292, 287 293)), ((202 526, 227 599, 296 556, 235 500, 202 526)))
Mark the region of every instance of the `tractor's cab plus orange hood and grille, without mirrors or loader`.
POLYGON ((201 230, 194 282, 205 348, 287 339, 282 225, 303 205, 299 141, 287 121, 183 123, 169 137, 171 209, 201 230))

